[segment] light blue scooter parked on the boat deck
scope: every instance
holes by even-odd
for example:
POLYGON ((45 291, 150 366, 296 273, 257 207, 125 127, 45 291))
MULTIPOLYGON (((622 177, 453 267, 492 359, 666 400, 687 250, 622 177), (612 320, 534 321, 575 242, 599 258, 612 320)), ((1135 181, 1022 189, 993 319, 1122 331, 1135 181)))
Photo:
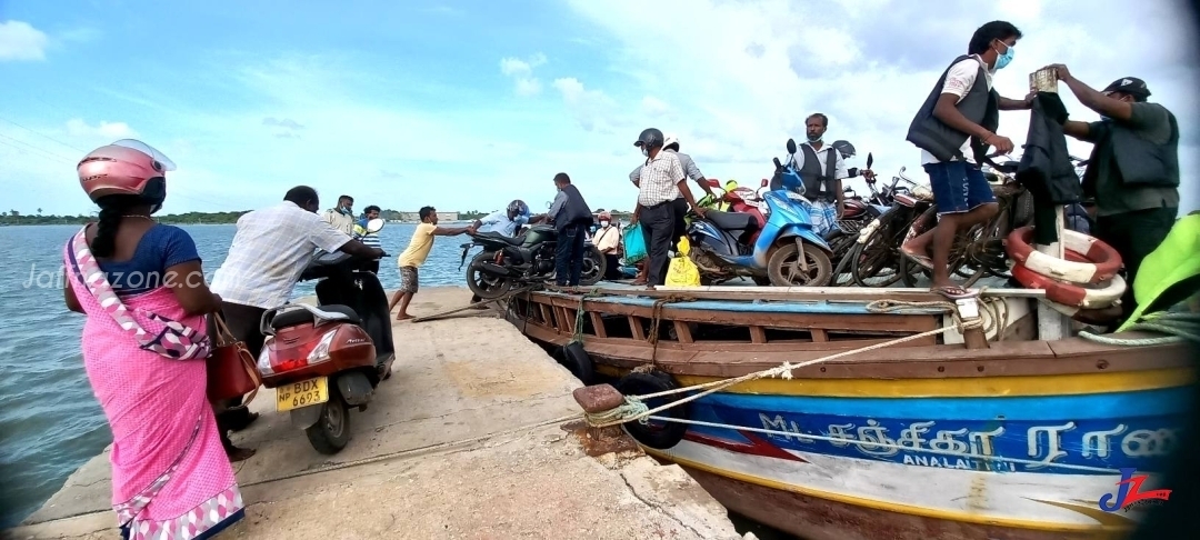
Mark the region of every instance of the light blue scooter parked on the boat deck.
MULTIPOLYGON (((788 152, 796 154, 796 143, 787 143, 788 152)), ((833 250, 786 188, 799 184, 796 168, 791 162, 785 167, 778 157, 774 162, 781 185, 772 182, 774 190, 762 196, 769 209, 764 224, 745 212, 707 210, 704 218, 692 218, 689 258, 702 283, 745 276, 760 286, 823 287, 833 278, 833 250)))

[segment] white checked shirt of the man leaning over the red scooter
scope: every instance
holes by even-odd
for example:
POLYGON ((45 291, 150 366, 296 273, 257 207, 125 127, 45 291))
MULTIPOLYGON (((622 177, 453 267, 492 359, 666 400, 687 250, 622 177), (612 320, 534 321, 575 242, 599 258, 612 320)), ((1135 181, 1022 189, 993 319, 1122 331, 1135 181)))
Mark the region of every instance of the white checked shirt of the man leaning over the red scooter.
POLYGON ((350 236, 284 200, 238 218, 238 232, 210 288, 227 302, 270 310, 288 302, 316 250, 335 252, 350 236))

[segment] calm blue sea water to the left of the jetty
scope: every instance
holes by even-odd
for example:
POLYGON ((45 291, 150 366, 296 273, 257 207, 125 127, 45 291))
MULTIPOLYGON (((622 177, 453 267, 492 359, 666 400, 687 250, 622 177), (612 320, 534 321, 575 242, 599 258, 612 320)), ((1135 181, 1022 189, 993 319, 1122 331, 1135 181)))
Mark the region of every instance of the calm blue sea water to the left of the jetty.
MULTIPOLYGON (((445 224, 445 223, 443 223, 445 224)), ((210 277, 224 260, 234 226, 184 226, 210 277)), ((395 257, 414 226, 390 223, 380 262, 384 288, 400 287, 395 257)), ((78 226, 0 227, 0 528, 37 510, 79 466, 112 443, 79 354, 83 316, 62 300, 62 246, 78 226)), ((421 286, 464 286, 457 270, 467 236, 438 238, 421 286)), ((294 296, 312 294, 299 283, 294 296)))

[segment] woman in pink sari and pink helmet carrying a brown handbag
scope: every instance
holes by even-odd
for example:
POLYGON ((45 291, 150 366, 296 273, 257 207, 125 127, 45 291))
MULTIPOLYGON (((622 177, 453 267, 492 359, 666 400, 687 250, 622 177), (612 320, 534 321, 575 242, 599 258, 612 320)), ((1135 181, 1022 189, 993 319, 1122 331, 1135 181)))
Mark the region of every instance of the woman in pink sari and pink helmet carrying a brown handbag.
POLYGON ((196 244, 150 217, 174 164, 138 140, 79 162, 100 206, 66 246, 66 304, 113 431, 113 510, 125 539, 206 539, 245 515, 205 394, 210 293, 196 244))

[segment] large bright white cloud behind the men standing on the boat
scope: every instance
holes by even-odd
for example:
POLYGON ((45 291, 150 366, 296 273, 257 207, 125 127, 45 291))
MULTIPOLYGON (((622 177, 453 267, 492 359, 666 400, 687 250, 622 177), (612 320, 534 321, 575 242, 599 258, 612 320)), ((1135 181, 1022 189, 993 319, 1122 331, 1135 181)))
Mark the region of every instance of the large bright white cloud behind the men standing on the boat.
MULTIPOLYGON (((1189 14, 1169 0, 1141 4, 1136 25, 1127 23, 1124 4, 1115 0, 1086 7, 948 0, 937 6, 936 17, 929 6, 902 0, 570 0, 570 5, 618 43, 606 66, 614 77, 556 82, 578 122, 584 128, 601 122, 631 125, 612 148, 624 146, 652 125, 680 133, 684 151, 709 176, 767 175, 770 157, 782 156, 787 138, 803 136, 804 118, 815 112, 829 116, 832 138, 857 146, 852 167, 863 166, 870 151, 884 178, 901 166, 922 176, 920 151, 905 140, 908 122, 949 61, 966 52, 974 29, 992 19, 1010 20, 1024 32, 1012 66, 996 74, 1002 95, 1024 97, 1028 73, 1056 62, 1068 65, 1093 88, 1122 76, 1140 77, 1154 92, 1152 101, 1181 120, 1183 176, 1200 173, 1193 155, 1200 126, 1189 121, 1200 112, 1193 91, 1198 74, 1193 30, 1189 14), (662 32, 664 18, 688 31, 662 32), (656 61, 646 54, 650 35, 655 50, 666 52, 656 61), (696 40, 697 35, 710 38, 696 40), (656 118, 662 108, 648 95, 661 96, 673 116, 656 118), (596 100, 606 106, 596 107, 596 100)), ((1073 119, 1098 119, 1066 84, 1060 92, 1073 119)), ((1027 118, 1024 112, 1001 113, 1000 133, 1020 145, 1027 118)), ((1069 145, 1080 156, 1091 149, 1074 139, 1069 145)), ((614 164, 612 170, 620 168, 614 164)), ((856 188, 862 193, 865 186, 856 188)), ((1200 194, 1190 185, 1183 190, 1193 200, 1200 194)))

